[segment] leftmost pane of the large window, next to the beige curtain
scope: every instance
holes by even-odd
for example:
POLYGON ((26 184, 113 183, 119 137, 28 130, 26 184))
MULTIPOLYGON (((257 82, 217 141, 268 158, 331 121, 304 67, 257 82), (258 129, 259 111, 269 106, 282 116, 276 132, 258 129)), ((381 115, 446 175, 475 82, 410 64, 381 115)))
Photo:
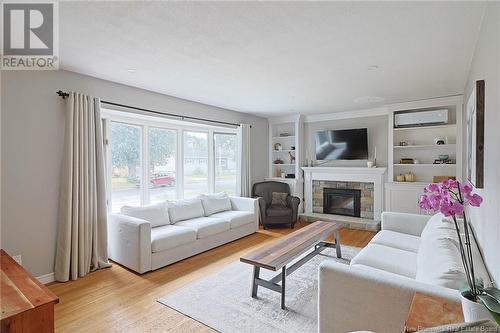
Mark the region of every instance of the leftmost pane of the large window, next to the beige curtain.
POLYGON ((112 211, 141 204, 141 128, 111 122, 112 211))

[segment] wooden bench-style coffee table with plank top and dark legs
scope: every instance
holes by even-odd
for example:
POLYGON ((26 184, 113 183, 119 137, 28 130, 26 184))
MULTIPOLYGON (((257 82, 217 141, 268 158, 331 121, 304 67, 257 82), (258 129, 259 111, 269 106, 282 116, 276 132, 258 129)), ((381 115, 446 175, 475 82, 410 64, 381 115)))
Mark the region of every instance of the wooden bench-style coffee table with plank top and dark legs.
POLYGON ((281 294, 281 308, 285 309, 285 281, 288 275, 315 255, 320 254, 325 248, 335 248, 337 258, 342 257, 339 237, 340 227, 341 224, 338 223, 317 221, 241 257, 241 262, 253 265, 252 297, 257 297, 257 288, 259 286, 276 291, 281 294), (332 234, 335 235, 335 243, 325 242, 326 237, 332 234), (313 247, 314 250, 309 254, 290 267, 286 267, 294 259, 313 247), (259 277, 261 268, 271 271, 281 270, 281 273, 271 280, 264 280, 259 277), (281 282, 281 285, 278 284, 279 282, 281 282))

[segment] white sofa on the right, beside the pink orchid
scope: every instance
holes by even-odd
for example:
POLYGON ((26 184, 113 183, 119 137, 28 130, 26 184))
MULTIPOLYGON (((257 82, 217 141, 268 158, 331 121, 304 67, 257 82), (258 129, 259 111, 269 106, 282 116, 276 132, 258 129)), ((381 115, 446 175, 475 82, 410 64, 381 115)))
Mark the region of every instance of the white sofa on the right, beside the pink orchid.
MULTIPOLYGON (((322 263, 319 332, 403 332, 416 291, 459 301, 465 275, 458 236, 443 218, 385 212, 382 230, 350 265, 322 263)), ((481 260, 475 263, 478 275, 489 281, 481 260)))

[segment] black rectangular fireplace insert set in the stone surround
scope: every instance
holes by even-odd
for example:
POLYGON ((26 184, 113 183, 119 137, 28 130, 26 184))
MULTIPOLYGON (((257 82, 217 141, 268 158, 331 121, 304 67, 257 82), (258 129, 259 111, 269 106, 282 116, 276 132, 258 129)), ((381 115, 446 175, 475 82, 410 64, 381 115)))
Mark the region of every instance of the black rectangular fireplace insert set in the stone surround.
POLYGON ((361 190, 324 188, 323 213, 360 217, 361 190))

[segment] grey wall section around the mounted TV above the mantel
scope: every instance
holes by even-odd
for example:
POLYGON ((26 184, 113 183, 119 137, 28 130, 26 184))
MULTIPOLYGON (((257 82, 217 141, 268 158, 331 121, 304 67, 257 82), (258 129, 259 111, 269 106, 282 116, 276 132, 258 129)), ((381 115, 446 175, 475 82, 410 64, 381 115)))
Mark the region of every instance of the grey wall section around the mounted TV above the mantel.
MULTIPOLYGON (((339 119, 329 121, 319 121, 305 124, 305 149, 309 154, 314 154, 315 141, 314 136, 317 131, 329 129, 368 129, 368 154, 373 158, 375 146, 377 147, 377 165, 387 166, 388 156, 388 121, 387 116, 339 119)), ((330 161, 325 166, 363 166, 366 167, 366 161, 330 161)))

